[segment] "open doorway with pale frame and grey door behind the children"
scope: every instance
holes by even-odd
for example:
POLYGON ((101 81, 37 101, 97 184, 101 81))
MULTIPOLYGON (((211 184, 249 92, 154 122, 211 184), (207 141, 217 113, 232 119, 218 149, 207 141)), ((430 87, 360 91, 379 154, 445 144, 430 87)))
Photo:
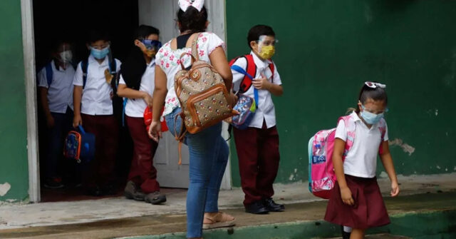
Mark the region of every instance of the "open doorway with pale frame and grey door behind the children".
MULTIPOLYGON (((51 60, 49 52, 53 42, 58 39, 71 39, 73 44, 73 55, 75 63, 85 59, 89 52, 86 48, 86 37, 88 31, 93 28, 105 27, 110 33, 111 49, 113 56, 120 61, 128 56, 130 48, 133 46, 133 32, 139 24, 148 24, 160 29, 160 41, 166 42, 172 37, 177 36, 177 27, 170 27, 170 22, 174 22, 177 12, 177 0, 133 0, 133 1, 109 1, 109 0, 81 0, 81 1, 57 1, 57 0, 22 0, 23 9, 29 5, 28 12, 33 19, 26 19, 26 25, 30 26, 24 30, 34 35, 34 41, 26 42, 24 48, 34 47, 35 63, 31 63, 31 68, 27 72, 30 77, 26 80, 28 91, 36 91, 36 83, 31 83, 31 78, 35 78, 43 66, 51 60), (95 26, 94 26, 95 25, 95 26), (33 69, 33 66, 34 69, 33 69), (36 69, 36 71, 35 71, 36 69)), ((224 39, 224 1, 206 1, 209 10, 208 31, 212 31, 224 39)), ((23 11, 23 15, 26 11, 23 11)), ((24 20, 24 16, 23 16, 24 20)), ((30 54, 33 56, 33 54, 30 54)), ((76 65, 76 64, 75 64, 76 65)), ((27 68, 27 67, 26 67, 27 68)), ((33 103, 28 106, 28 114, 38 112, 38 135, 36 131, 30 130, 28 133, 29 142, 38 141, 39 159, 33 156, 36 149, 30 149, 29 175, 30 175, 30 195, 31 201, 60 201, 60 200, 85 200, 93 199, 83 195, 78 189, 60 190, 58 193, 53 190, 40 187, 39 178, 41 173, 38 168, 43 164, 46 156, 46 123, 43 123, 43 116, 37 98, 28 98, 28 102, 33 103), (41 189, 40 189, 41 188, 41 189)), ((36 122, 33 117, 28 117, 28 123, 36 122)), ((226 127, 226 126, 225 126, 226 127)), ((33 127, 31 127, 33 128, 33 127)), ((225 128, 226 129, 226 128, 225 128)), ((130 168, 131 152, 133 143, 126 128, 121 128, 120 153, 118 153, 117 173, 118 173, 118 195, 123 195, 128 170, 130 168)), ((224 130, 224 138, 228 138, 227 131, 224 130)), ((164 187, 187 188, 188 186, 188 154, 183 150, 183 164, 177 165, 177 143, 170 133, 165 133, 165 138, 160 142, 155 155, 155 166, 158 171, 158 180, 164 187)), ((42 171, 42 170, 41 170, 42 171)), ((42 183, 41 183, 42 185, 42 183)), ((231 188, 230 164, 227 165, 222 188, 231 188)), ((166 192, 165 192, 166 193, 166 192)))

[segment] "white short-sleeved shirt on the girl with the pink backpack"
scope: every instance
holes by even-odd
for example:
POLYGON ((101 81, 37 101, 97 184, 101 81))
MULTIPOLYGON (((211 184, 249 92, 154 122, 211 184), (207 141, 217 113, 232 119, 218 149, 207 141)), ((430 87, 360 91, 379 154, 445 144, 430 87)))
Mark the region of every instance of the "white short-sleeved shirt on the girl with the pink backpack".
MULTIPOLYGON (((378 123, 368 128, 357 113, 353 112, 351 116, 355 119, 356 135, 353 146, 343 162, 343 172, 350 176, 373 178, 377 171, 378 148, 382 143, 378 123)), ((347 141, 347 131, 343 121, 339 121, 335 137, 347 141)), ((388 126, 386 125, 383 141, 388 141, 388 126)))

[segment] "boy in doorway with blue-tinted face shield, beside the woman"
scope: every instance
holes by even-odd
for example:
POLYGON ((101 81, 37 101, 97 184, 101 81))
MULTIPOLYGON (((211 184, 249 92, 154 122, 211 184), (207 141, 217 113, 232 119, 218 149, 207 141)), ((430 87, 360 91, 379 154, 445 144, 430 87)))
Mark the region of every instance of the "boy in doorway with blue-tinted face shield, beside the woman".
MULTIPOLYGON (((135 46, 120 69, 118 96, 125 97, 125 118, 133 138, 133 160, 125 198, 144 200, 146 203, 165 203, 160 193, 157 169, 153 158, 158 143, 147 136, 144 122, 145 108, 152 108, 155 86, 155 54, 162 46, 158 41, 160 31, 152 26, 141 25, 135 32, 135 46)), ((155 109, 154 109, 155 110, 155 109)))

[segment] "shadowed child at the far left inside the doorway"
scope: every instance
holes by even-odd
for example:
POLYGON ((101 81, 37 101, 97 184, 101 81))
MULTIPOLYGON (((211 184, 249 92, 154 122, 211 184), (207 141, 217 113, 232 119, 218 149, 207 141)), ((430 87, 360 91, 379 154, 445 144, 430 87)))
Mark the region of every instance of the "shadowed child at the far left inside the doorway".
POLYGON ((38 73, 41 106, 48 126, 48 150, 45 162, 46 188, 63 187, 58 173, 62 162, 63 137, 73 117, 73 54, 68 41, 59 41, 52 50, 53 60, 38 73))

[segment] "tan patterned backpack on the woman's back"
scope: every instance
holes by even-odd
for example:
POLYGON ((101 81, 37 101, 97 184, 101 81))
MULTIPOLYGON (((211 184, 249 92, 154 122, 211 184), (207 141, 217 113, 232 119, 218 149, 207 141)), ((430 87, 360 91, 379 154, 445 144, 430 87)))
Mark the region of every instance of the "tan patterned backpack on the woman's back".
MULTIPOLYGON (((209 63, 199 60, 198 36, 192 42, 192 54, 180 56, 181 60, 185 55, 192 57, 190 70, 186 70, 180 61, 182 70, 175 75, 175 91, 182 107, 180 116, 189 133, 198 133, 236 115, 229 104, 229 92, 222 76, 209 63)), ((176 138, 182 141, 184 135, 185 132, 176 138)))

